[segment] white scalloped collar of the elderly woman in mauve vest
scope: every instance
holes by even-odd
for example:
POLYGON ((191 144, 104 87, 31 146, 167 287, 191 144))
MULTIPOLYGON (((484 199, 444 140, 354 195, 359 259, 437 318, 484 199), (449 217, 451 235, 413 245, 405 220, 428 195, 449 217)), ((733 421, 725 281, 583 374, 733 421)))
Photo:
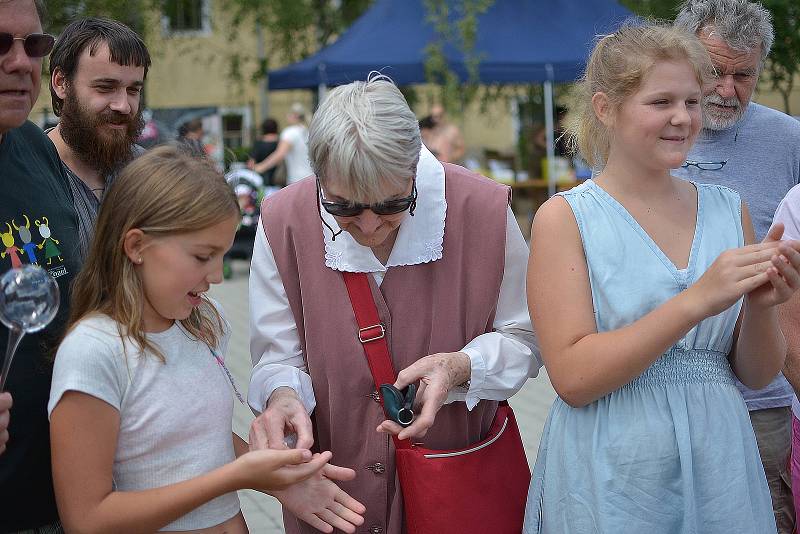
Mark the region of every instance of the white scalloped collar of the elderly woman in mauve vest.
MULTIPOLYGON (((322 208, 320 213, 325 222, 338 232, 336 219, 322 208)), ((320 223, 325 237, 325 265, 337 271, 377 273, 389 267, 439 260, 442 258, 446 215, 444 167, 422 145, 417 164, 417 209, 413 217, 406 214, 386 265, 375 257, 372 249, 359 245, 347 232, 342 232, 333 241, 330 230, 320 223)))

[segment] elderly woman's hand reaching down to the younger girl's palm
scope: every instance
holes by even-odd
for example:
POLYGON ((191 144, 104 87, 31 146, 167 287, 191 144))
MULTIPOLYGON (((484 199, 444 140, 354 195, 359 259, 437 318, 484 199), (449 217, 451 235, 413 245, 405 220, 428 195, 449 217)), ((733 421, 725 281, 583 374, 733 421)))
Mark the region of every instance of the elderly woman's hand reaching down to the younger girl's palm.
POLYGON ((288 449, 287 436, 297 435, 298 449, 314 444, 311 418, 303 402, 292 388, 280 387, 272 392, 267 409, 250 424, 250 450, 288 449))

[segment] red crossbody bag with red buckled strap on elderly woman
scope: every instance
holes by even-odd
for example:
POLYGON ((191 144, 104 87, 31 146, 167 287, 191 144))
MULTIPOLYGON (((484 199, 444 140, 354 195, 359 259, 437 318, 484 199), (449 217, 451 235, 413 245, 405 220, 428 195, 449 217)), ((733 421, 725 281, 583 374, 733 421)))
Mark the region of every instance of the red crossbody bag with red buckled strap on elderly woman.
MULTIPOLYGON (((365 273, 342 273, 375 387, 394 384, 385 329, 365 273)), ((514 412, 497 407, 488 435, 432 450, 393 437, 408 534, 519 534, 531 473, 514 412)))

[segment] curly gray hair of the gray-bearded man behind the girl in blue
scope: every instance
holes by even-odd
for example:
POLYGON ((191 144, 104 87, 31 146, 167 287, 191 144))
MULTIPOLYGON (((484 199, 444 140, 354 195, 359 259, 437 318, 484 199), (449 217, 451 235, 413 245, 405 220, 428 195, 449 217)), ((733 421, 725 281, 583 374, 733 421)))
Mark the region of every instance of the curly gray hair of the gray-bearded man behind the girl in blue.
POLYGON ((713 27, 734 50, 749 52, 760 46, 762 65, 775 40, 770 12, 748 0, 686 0, 675 25, 694 34, 713 27))

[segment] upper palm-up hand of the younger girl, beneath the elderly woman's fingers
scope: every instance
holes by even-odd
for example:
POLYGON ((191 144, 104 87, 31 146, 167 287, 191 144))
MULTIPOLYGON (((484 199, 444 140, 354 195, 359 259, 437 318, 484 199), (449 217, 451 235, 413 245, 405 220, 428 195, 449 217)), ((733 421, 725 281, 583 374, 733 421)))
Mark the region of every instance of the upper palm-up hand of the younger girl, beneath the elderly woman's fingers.
POLYGON ((262 492, 288 488, 320 471, 330 452, 311 454, 308 449, 250 451, 236 459, 242 487, 262 492))

